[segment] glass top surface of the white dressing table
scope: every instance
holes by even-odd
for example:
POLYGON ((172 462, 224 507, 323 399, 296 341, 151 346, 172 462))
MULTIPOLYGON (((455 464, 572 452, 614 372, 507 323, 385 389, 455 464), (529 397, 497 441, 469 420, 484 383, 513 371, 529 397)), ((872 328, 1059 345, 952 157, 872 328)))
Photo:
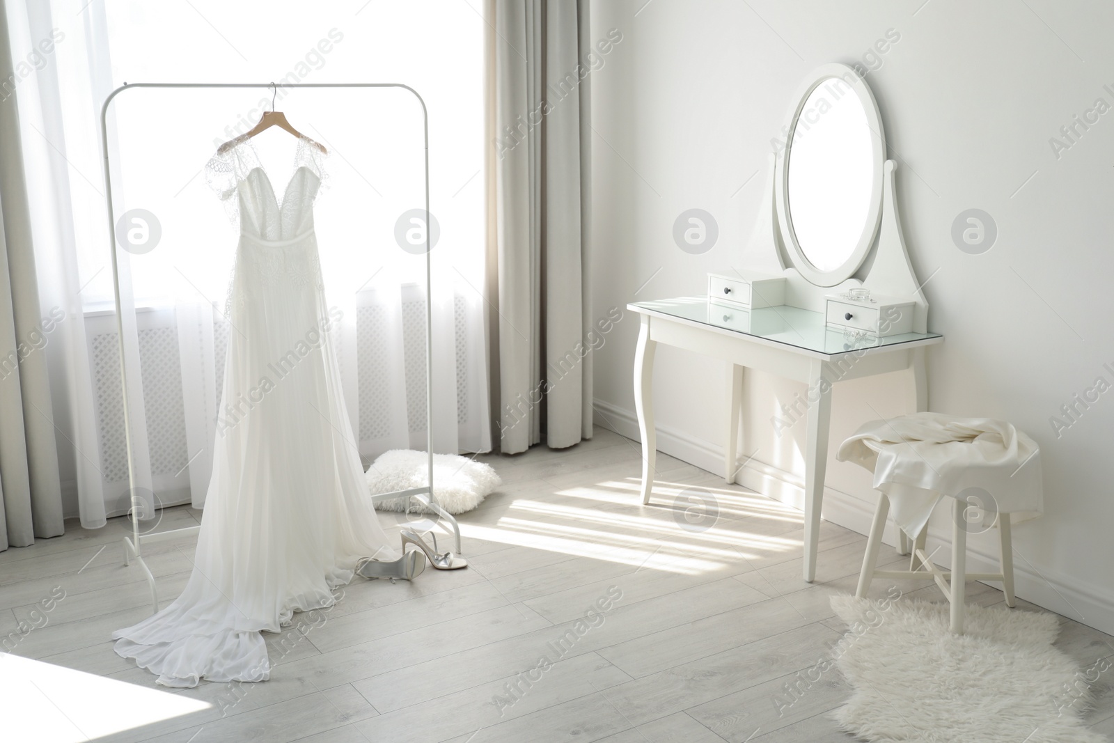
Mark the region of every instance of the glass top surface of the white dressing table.
POLYGON ((822 312, 789 305, 734 309, 713 304, 705 296, 633 302, 629 306, 828 355, 944 338, 939 333, 901 333, 879 338, 863 331, 828 327, 822 312))

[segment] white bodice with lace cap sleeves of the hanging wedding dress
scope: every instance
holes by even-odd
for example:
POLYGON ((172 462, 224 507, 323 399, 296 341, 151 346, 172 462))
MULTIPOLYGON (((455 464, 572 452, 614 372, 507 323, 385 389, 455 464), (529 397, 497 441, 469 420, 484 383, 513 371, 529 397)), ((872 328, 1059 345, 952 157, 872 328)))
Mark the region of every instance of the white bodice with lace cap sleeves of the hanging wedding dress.
POLYGON ((243 234, 266 241, 290 239, 313 227, 313 203, 325 189, 325 155, 312 139, 300 137, 294 170, 282 201, 247 137, 215 154, 205 166, 205 179, 224 203, 228 218, 243 234))

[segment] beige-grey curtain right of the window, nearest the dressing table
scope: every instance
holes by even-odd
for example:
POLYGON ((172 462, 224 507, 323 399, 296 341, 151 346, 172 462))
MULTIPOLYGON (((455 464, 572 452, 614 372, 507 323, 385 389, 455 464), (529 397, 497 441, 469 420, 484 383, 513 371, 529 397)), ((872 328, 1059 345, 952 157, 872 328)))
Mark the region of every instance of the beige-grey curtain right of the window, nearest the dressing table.
POLYGON ((592 437, 588 0, 487 10, 495 438, 569 447, 592 437))

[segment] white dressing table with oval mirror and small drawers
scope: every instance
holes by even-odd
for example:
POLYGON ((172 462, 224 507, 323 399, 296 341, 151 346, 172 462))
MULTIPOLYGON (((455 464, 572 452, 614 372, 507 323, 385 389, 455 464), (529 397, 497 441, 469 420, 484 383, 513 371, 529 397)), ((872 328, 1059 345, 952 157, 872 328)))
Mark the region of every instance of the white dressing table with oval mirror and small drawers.
MULTIPOLYGON (((653 369, 658 343, 732 365, 724 479, 737 475, 745 369, 808 385, 803 577, 815 577, 831 390, 905 371, 909 412, 926 410, 928 302, 897 209, 893 160, 867 84, 846 65, 815 70, 792 98, 785 141, 774 139, 759 219, 739 267, 709 274, 709 294, 627 309, 641 320, 634 397, 642 436, 642 501, 654 485, 653 369)), ((903 535, 902 535, 903 537, 903 535)), ((906 554, 902 539, 899 551, 906 554)))

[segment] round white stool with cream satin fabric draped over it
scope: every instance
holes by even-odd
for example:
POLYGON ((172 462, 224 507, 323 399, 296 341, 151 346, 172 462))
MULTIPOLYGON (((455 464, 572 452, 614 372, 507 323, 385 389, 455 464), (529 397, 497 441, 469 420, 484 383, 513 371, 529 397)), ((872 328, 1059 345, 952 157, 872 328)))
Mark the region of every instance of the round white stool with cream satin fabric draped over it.
POLYGON ((1040 451, 1005 421, 916 413, 870 421, 844 441, 840 461, 874 475, 879 490, 857 595, 874 577, 932 579, 951 602, 951 630, 964 630, 964 583, 1000 580, 1014 606, 1012 525, 1044 508, 1040 451), (941 498, 954 499, 951 570, 939 570, 925 554, 928 519, 941 498), (909 570, 876 570, 882 532, 892 506, 898 528, 913 541, 909 570), (978 516, 979 520, 973 520, 978 516), (1001 573, 967 573, 967 535, 998 527, 1001 573))

